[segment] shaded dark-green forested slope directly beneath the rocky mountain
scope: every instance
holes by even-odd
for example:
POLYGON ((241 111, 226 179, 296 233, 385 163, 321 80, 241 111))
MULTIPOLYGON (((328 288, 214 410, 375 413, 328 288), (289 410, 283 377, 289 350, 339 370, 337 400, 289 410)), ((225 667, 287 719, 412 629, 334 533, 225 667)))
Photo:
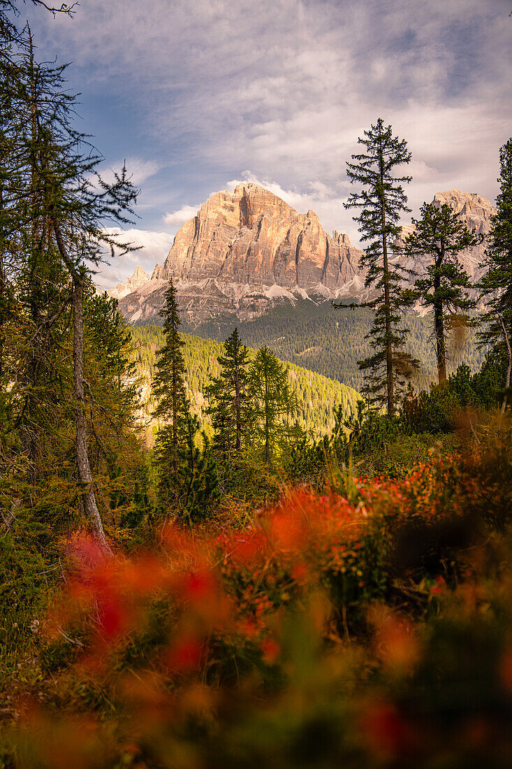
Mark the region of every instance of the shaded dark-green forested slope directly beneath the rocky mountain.
MULTIPOLYGON (((334 310, 329 302, 315 305, 301 300, 295 306, 276 307, 254 321, 215 318, 194 326, 184 318, 182 328, 198 337, 224 341, 237 325, 247 345, 253 348, 268 345, 281 360, 317 371, 359 391, 363 374, 357 361, 367 353, 365 336, 372 317, 372 312, 365 308, 334 310)), ((411 330, 406 349, 421 361, 421 369, 412 379, 414 390, 420 391, 437 378, 432 319, 407 314, 404 325, 411 330)), ((474 341, 474 331, 470 329, 454 332, 448 344, 448 373, 454 372, 460 363, 466 363, 471 371, 480 368, 484 351, 479 350, 474 341)))

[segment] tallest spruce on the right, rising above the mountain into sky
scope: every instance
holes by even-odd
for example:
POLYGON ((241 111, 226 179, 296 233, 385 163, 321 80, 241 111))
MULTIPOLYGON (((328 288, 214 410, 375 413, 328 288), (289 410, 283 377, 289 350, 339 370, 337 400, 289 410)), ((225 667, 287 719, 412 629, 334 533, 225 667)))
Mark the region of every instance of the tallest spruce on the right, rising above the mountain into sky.
POLYGON ((347 176, 362 189, 351 193, 344 205, 361 209, 354 217, 359 224, 361 241, 367 243, 360 265, 367 268, 366 288, 377 294, 366 304, 374 310, 367 338, 375 352, 358 362, 366 373, 368 400, 387 404, 387 413, 392 415, 397 395, 418 365, 403 350, 407 330, 400 324, 402 281, 406 271, 390 258, 391 243, 400 231, 398 221, 404 212, 411 210, 407 208, 407 195, 402 186, 411 181, 411 177, 395 176, 394 171, 411 161, 411 152, 407 142, 394 136, 391 125, 384 126, 381 118, 357 141, 364 145, 365 151, 352 155, 353 162, 347 162, 347 176))

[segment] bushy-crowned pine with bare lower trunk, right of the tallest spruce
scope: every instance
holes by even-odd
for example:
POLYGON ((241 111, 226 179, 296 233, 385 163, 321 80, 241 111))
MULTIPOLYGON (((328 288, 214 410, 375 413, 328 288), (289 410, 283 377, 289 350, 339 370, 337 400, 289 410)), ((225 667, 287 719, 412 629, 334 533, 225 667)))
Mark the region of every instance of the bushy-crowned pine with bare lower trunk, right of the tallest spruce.
POLYGON ((404 253, 427 255, 431 261, 426 275, 417 279, 416 291, 410 296, 419 298, 424 307, 433 308, 437 373, 443 382, 446 381, 447 331, 454 325, 468 325, 465 314, 475 305, 468 293, 469 276, 457 255, 477 245, 479 240, 446 203, 441 208, 424 203, 421 218, 413 218, 412 224, 414 231, 405 238, 404 253))

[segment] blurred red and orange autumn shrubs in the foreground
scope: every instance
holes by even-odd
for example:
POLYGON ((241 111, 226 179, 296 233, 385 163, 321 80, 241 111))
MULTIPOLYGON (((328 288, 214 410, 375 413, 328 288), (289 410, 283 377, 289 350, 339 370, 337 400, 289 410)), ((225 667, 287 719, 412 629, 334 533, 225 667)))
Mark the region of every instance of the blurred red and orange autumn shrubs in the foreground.
POLYGON ((483 576, 487 541, 454 539, 474 523, 472 488, 451 458, 400 483, 354 478, 350 494, 296 491, 244 531, 166 524, 138 558, 105 562, 78 538, 48 636, 76 639, 60 675, 101 717, 85 753, 79 719, 62 734, 39 711, 19 733, 42 765, 45 730, 76 766, 294 766, 311 745, 308 765, 431 765, 448 732, 460 765, 500 754, 512 587, 483 576), (417 554, 398 568, 404 532, 417 554))

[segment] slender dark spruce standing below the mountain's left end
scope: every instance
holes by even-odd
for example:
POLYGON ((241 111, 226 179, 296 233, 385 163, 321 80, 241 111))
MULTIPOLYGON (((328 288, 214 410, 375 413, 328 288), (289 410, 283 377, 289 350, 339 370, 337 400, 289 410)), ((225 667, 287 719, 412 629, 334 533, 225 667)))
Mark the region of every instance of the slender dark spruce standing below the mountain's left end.
POLYGON ((165 292, 165 305, 160 315, 164 319, 165 345, 158 351, 153 392, 158 401, 155 417, 165 423, 157 438, 161 483, 165 490, 172 486, 169 475, 178 471, 180 430, 188 414, 185 361, 181 351, 185 342, 178 331, 181 320, 172 279, 165 292))

